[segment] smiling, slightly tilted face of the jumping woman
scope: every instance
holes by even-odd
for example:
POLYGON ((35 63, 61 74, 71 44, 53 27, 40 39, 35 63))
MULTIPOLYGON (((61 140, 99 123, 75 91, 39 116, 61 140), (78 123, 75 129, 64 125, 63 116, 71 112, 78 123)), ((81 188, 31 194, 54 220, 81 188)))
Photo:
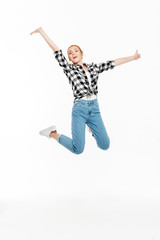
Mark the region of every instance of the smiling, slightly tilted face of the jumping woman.
POLYGON ((73 62, 73 64, 76 64, 79 61, 81 61, 82 57, 83 57, 83 54, 81 53, 81 51, 79 50, 78 47, 72 46, 72 47, 69 48, 68 58, 69 58, 70 61, 73 62))

